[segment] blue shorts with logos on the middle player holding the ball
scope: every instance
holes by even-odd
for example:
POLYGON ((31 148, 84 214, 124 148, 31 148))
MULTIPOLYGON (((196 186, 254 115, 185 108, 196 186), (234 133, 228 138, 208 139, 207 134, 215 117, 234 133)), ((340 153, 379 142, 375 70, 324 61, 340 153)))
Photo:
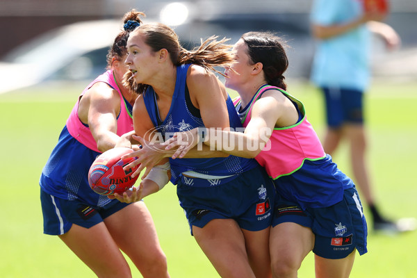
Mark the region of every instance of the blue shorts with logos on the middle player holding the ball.
POLYGON ((275 186, 261 166, 239 174, 231 181, 186 178, 177 184, 177 195, 186 213, 191 235, 213 219, 234 219, 239 227, 261 231, 270 227, 275 186), (211 181, 206 186, 206 181, 211 181))

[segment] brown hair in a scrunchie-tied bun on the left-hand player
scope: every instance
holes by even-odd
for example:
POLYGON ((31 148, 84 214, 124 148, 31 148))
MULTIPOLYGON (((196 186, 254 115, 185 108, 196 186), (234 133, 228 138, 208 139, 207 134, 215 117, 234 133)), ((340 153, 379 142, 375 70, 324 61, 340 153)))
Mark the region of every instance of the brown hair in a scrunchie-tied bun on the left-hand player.
POLYGON ((113 60, 113 57, 117 58, 117 60, 120 60, 124 54, 127 53, 126 45, 127 45, 127 39, 129 38, 129 34, 131 31, 134 30, 134 28, 129 28, 126 26, 127 22, 138 22, 139 24, 142 24, 142 20, 140 17, 145 17, 145 13, 138 12, 135 9, 130 10, 129 12, 125 13, 123 16, 123 24, 124 28, 122 28, 122 31, 116 36, 115 41, 113 42, 113 45, 108 49, 107 54, 107 68, 110 69, 111 63, 113 60))

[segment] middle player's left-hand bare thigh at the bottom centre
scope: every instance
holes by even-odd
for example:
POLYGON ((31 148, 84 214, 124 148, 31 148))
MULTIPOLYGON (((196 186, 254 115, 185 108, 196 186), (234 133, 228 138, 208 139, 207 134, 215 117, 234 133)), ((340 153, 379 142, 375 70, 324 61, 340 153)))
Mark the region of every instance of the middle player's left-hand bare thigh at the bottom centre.
POLYGON ((245 249, 245 238, 231 219, 214 219, 193 235, 221 277, 254 277, 245 249))

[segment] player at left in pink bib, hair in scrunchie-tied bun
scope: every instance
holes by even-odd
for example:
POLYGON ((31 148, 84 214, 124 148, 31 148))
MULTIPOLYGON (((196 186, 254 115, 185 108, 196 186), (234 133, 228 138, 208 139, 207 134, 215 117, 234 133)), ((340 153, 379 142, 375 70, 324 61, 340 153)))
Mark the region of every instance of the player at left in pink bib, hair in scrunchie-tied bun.
POLYGON ((108 52, 108 71, 79 96, 40 177, 44 234, 57 235, 97 277, 131 277, 121 250, 143 277, 169 277, 145 203, 124 204, 98 195, 88 184, 88 170, 101 152, 123 139, 131 147, 137 95, 122 79, 126 42, 141 16, 136 10, 124 15, 124 30, 108 52))

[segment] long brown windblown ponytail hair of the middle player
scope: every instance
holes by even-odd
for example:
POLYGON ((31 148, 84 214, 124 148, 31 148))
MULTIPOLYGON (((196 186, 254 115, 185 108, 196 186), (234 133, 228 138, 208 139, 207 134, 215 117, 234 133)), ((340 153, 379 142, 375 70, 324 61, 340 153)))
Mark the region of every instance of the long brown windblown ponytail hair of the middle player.
MULTIPOLYGON (((136 28, 136 33, 144 35, 145 43, 152 48, 152 51, 167 49, 170 54, 170 60, 175 66, 184 64, 194 64, 204 67, 206 70, 218 72, 215 67, 225 67, 233 63, 231 56, 231 45, 225 44, 229 39, 223 38, 217 40, 218 37, 212 36, 205 40, 201 40, 201 45, 188 51, 181 47, 178 35, 165 24, 150 23, 144 24, 136 28)), ((223 75, 223 74, 222 74, 223 75)), ((124 75, 124 85, 128 86, 134 92, 144 92, 147 88, 146 84, 138 84, 131 79, 131 72, 124 75)))

